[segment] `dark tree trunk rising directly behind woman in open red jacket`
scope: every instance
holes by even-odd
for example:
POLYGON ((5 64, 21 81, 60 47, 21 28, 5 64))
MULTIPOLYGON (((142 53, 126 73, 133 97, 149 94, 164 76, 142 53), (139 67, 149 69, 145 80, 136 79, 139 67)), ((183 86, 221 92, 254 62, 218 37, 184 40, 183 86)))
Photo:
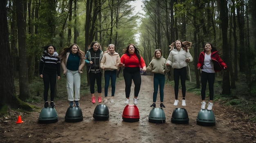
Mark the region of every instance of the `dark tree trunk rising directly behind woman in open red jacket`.
POLYGON ((228 9, 227 9, 227 1, 226 0, 217 0, 220 7, 220 26, 222 32, 222 50, 223 50, 223 61, 227 63, 227 69, 223 72, 223 81, 222 81, 222 94, 229 95, 230 91, 230 81, 229 81, 229 45, 227 38, 227 29, 229 24, 228 19, 228 9))

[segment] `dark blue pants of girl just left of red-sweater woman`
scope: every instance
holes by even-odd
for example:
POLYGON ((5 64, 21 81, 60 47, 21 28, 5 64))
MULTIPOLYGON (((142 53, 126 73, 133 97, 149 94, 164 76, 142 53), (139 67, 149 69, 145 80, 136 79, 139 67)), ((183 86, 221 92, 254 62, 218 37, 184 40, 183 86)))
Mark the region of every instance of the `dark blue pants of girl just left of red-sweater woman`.
POLYGON ((116 80, 117 80, 117 70, 113 71, 105 71, 105 97, 108 96, 108 86, 109 86, 109 81, 111 78, 111 96, 115 95, 115 90, 116 90, 116 80))

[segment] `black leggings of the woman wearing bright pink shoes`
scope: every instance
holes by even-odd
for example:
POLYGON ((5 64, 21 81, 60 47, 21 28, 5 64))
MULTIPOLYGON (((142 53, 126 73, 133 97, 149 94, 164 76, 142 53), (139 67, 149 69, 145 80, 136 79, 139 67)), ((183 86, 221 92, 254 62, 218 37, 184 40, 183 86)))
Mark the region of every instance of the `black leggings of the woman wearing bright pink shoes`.
POLYGON ((94 90, 95 79, 97 82, 98 93, 101 93, 101 76, 102 76, 101 72, 98 72, 96 74, 93 72, 89 72, 91 94, 93 94, 95 92, 95 90, 94 90))

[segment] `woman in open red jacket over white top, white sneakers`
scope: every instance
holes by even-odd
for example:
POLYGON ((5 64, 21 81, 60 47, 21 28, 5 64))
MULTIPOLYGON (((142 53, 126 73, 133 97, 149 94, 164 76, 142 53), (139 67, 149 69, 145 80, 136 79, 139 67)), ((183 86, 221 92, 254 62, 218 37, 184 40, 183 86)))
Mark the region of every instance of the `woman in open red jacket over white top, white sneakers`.
POLYGON ((204 110, 206 105, 204 100, 206 84, 208 80, 210 101, 208 103, 207 110, 210 111, 212 110, 213 106, 213 85, 215 80, 215 72, 219 72, 222 69, 227 69, 227 65, 222 61, 222 59, 218 55, 218 51, 216 50, 216 48, 214 48, 211 43, 207 42, 204 44, 204 51, 201 52, 199 55, 197 67, 198 70, 202 70, 201 109, 204 110))

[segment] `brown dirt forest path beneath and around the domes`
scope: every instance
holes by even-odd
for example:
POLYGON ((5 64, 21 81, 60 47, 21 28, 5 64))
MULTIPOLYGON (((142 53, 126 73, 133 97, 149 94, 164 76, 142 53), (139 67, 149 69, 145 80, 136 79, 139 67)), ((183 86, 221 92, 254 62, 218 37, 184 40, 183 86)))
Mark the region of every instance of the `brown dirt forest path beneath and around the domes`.
MULTIPOLYGON (((163 108, 166 122, 150 123, 148 115, 152 110, 153 76, 141 76, 139 93, 139 121, 125 122, 122 113, 126 104, 124 80, 117 81, 114 103, 106 103, 110 117, 107 121, 96 121, 93 118, 95 107, 91 96, 81 95, 80 108, 83 120, 66 122, 65 114, 69 102, 56 100, 58 121, 52 124, 39 124, 38 117, 43 104, 34 104, 40 109, 34 112, 10 111, 8 116, 0 117, 1 143, 256 143, 256 124, 237 108, 225 106, 218 101, 213 104, 216 118, 215 126, 201 126, 196 118, 201 107, 201 97, 186 92, 186 106, 181 106, 182 94, 179 91, 179 104, 173 106, 174 89, 169 85, 164 87, 163 108), (171 122, 175 108, 185 108, 189 116, 189 124, 171 122), (18 115, 22 124, 16 124, 18 115)), ((130 99, 133 99, 132 84, 130 99)), ((104 91, 104 90, 103 90, 104 91)), ((109 88, 111 93, 111 88, 109 88)), ((104 93, 103 93, 104 94, 104 93)), ((67 96, 67 95, 66 95, 67 96)), ((103 97, 104 95, 102 95, 103 97)), ((103 103, 101 103, 103 104, 103 103)), ((133 104, 130 100, 129 104, 133 104)), ((159 107, 159 93, 157 95, 159 107)), ((75 108, 75 107, 73 107, 75 108)))

